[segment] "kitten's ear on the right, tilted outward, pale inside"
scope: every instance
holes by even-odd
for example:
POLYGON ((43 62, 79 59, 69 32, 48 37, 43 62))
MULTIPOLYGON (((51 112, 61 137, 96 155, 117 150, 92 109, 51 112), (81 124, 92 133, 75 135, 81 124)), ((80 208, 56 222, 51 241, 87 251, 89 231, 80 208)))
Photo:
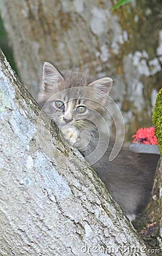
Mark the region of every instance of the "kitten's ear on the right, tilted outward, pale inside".
POLYGON ((110 77, 103 77, 102 79, 91 82, 91 84, 89 84, 88 86, 97 89, 98 92, 101 91, 101 93, 103 92, 109 94, 112 85, 113 80, 110 79, 110 77))

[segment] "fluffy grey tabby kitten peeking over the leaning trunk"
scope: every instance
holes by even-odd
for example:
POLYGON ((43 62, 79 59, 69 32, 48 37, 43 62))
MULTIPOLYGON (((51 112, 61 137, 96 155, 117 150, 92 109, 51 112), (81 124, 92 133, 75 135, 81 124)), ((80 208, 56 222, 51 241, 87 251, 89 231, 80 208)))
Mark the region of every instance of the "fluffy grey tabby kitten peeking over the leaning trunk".
POLYGON ((152 155, 144 161, 126 147, 109 162, 114 143, 110 142, 107 147, 106 107, 112 85, 109 77, 93 81, 81 72, 61 74, 45 62, 38 101, 56 122, 68 144, 78 148, 90 162, 132 221, 147 204, 156 166, 152 155))

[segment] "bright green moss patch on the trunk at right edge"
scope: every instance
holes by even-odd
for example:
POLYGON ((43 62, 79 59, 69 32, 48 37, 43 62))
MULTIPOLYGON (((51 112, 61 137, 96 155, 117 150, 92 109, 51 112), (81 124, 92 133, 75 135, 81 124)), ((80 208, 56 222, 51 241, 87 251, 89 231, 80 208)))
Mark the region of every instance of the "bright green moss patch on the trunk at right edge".
POLYGON ((157 94, 155 108, 152 115, 153 123, 155 125, 155 135, 157 137, 157 144, 160 154, 162 156, 162 88, 157 94))

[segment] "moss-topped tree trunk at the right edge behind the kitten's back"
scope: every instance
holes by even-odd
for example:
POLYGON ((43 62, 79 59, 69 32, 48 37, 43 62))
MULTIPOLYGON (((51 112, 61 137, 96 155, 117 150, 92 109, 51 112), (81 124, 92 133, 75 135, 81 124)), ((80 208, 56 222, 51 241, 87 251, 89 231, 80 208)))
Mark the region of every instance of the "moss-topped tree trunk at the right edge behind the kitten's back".
POLYGON ((155 247, 158 244, 162 251, 162 88, 156 97, 152 119, 161 158, 157 164, 149 203, 140 220, 136 220, 134 224, 136 228, 140 226, 140 234, 149 245, 155 247))

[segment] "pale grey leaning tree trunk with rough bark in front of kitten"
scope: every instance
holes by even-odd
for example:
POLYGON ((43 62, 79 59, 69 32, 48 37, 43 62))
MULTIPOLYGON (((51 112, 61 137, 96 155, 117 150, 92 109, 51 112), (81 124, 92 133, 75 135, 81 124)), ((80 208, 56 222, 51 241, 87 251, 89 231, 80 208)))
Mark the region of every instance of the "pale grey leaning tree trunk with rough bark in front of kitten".
POLYGON ((147 255, 105 185, 0 60, 0 254, 147 255))

